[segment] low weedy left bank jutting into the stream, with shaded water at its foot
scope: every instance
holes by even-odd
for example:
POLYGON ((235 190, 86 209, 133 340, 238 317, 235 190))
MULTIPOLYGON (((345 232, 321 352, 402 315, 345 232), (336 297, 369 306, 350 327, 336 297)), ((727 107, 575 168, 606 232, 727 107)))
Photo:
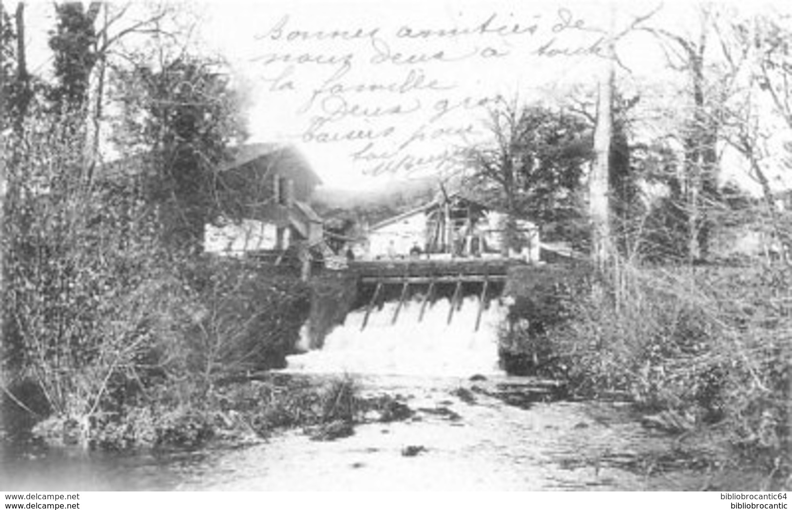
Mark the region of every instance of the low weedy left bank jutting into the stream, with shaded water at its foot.
MULTIPOLYGON (((117 424, 93 424, 86 442, 79 424, 49 417, 31 430, 0 435, 0 489, 126 488, 124 470, 169 470, 223 451, 266 443, 288 430, 310 440, 351 436, 356 425, 409 417, 398 398, 364 398, 349 377, 301 377, 266 372, 218 383, 202 402, 128 410, 117 424), (61 471, 63 470, 63 471, 61 471), (104 471, 107 471, 106 476, 104 471), (63 485, 66 484, 66 485, 63 485), (87 485, 86 485, 87 484, 87 485)), ((129 489, 173 489, 150 480, 129 489)))

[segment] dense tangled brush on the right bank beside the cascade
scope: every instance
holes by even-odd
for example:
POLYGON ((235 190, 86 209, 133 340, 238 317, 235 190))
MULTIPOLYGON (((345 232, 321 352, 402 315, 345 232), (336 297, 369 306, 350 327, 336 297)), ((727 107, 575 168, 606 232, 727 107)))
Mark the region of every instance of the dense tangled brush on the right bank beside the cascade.
POLYGON ((501 348, 517 367, 579 397, 629 398, 671 431, 718 424, 745 459, 792 473, 788 268, 622 264, 571 280, 545 289, 563 318, 550 327, 541 306, 512 309, 501 348))

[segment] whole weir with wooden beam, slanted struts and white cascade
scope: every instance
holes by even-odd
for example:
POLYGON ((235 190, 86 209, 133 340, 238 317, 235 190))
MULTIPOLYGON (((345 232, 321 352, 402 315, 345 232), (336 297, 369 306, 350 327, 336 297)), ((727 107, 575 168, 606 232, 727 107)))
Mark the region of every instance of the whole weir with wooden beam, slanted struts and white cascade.
POLYGON ((350 261, 312 280, 303 354, 290 370, 379 375, 501 374, 512 306, 554 295, 573 265, 511 259, 350 261), (521 301, 522 300, 522 301, 521 301))

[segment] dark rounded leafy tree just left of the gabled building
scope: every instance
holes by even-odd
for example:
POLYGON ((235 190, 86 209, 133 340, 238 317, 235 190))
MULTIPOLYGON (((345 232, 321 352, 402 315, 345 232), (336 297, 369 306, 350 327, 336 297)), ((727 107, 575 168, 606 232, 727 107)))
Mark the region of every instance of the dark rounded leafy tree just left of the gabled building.
POLYGON ((159 70, 119 71, 117 82, 124 105, 117 141, 149 156, 148 190, 162 207, 164 238, 200 251, 206 223, 225 212, 217 169, 246 138, 242 96, 217 63, 189 55, 159 70))

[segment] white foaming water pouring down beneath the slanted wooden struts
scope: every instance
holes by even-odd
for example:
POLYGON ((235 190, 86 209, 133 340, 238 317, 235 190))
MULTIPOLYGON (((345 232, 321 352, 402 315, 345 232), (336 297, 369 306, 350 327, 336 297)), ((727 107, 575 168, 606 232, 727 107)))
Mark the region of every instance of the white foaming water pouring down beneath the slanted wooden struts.
POLYGON ((361 330, 365 310, 348 314, 325 339, 322 349, 289 356, 290 371, 376 375, 462 376, 500 374, 497 367, 497 327, 506 306, 493 300, 475 331, 478 299, 466 297, 447 324, 449 302, 427 307, 418 322, 421 303, 406 302, 391 324, 398 303, 373 310, 361 330))

